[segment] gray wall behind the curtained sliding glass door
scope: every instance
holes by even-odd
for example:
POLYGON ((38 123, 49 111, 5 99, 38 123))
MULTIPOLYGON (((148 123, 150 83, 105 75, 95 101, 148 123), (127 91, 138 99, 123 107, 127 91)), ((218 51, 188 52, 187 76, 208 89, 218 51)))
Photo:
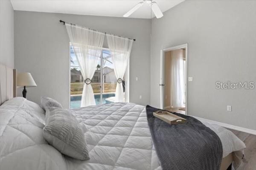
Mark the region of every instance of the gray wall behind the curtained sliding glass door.
POLYGON ((136 38, 130 58, 130 102, 150 102, 150 20, 15 11, 15 68, 30 72, 38 85, 27 89, 28 99, 40 103, 40 96, 49 96, 69 107, 69 38, 60 19, 136 38))

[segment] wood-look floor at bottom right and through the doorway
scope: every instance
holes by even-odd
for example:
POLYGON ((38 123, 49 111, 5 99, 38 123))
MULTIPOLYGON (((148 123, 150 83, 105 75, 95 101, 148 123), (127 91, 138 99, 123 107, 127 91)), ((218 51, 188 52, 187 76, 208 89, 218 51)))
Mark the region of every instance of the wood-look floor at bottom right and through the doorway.
MULTIPOLYGON (((178 109, 167 108, 165 110, 185 114, 185 111, 178 109)), ((242 163, 237 170, 256 170, 256 136, 233 129, 228 130, 232 131, 246 146, 244 155, 247 163, 242 163)))

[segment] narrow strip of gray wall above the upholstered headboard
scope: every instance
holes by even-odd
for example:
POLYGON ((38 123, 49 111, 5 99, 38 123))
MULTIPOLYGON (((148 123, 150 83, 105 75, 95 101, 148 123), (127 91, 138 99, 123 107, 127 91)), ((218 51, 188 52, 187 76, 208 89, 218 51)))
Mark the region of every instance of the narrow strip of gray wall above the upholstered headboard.
POLYGON ((0 0, 0 63, 14 67, 14 11, 10 0, 0 0))

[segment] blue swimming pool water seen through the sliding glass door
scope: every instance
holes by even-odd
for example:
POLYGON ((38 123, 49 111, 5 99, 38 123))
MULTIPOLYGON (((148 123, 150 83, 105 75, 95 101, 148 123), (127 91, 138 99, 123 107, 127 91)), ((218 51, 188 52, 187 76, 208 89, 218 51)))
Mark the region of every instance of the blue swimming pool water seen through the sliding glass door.
MULTIPOLYGON (((115 96, 114 93, 102 94, 102 104, 108 104, 110 102, 105 99, 115 96)), ((80 108, 82 96, 70 96, 70 108, 80 108)), ((100 105, 100 94, 94 94, 96 105, 100 105)))

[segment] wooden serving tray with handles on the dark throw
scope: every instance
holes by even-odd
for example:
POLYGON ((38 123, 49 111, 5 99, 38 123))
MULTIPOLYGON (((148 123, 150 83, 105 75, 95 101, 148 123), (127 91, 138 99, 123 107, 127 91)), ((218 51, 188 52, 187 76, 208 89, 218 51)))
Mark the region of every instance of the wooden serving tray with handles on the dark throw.
POLYGON ((157 111, 157 112, 153 112, 153 115, 155 117, 157 117, 158 119, 163 120, 166 123, 169 123, 171 125, 175 125, 175 124, 179 124, 179 123, 185 123, 186 119, 177 116, 175 114, 172 114, 170 112, 167 111, 157 111))

